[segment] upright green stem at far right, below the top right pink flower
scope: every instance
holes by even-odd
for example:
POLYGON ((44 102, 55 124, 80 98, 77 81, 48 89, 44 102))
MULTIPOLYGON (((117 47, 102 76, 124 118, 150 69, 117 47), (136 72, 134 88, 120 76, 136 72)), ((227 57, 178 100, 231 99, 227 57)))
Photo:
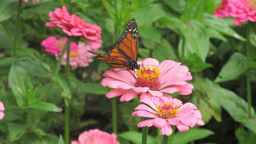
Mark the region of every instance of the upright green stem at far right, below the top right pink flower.
MULTIPOLYGON (((251 59, 251 43, 250 43, 250 33, 251 33, 252 22, 248 21, 247 32, 246 32, 246 57, 251 59)), ((251 117, 251 106, 252 106, 252 96, 251 96, 251 81, 250 81, 250 68, 246 71, 246 93, 248 102, 248 116, 251 117)))

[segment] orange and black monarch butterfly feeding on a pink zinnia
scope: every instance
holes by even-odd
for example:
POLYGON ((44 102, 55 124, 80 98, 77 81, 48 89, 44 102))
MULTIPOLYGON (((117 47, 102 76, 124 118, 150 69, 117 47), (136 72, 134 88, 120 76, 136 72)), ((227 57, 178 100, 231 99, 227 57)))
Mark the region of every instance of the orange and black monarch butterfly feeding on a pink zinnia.
POLYGON ((138 27, 134 18, 125 26, 121 37, 113 44, 108 54, 104 55, 97 52, 88 51, 95 54, 96 59, 103 60, 111 68, 122 70, 140 69, 138 61, 138 27))

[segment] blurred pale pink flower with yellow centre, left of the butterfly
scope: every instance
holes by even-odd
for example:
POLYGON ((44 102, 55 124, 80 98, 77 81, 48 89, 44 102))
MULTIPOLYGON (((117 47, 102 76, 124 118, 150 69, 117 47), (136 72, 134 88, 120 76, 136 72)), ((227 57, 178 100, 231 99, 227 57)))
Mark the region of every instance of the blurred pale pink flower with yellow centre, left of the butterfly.
MULTIPOLYGON (((78 45, 76 45, 75 42, 70 43, 70 57, 69 57, 69 64, 71 66, 71 69, 74 70, 77 67, 87 67, 89 66, 90 62, 93 62, 93 54, 87 52, 87 50, 91 50, 89 45, 85 45, 83 42, 79 42, 78 45)), ((57 60, 58 56, 55 55, 57 60)), ((67 52, 65 51, 62 60, 62 65, 67 64, 67 52)))

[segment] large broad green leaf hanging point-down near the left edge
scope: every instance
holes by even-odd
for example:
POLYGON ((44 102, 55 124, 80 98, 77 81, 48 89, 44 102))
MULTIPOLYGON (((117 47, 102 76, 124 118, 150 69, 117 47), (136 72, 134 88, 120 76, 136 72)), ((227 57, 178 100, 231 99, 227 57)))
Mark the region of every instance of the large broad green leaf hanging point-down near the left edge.
POLYGON ((8 76, 8 82, 17 104, 20 107, 25 108, 27 106, 26 87, 33 88, 27 72, 20 66, 12 65, 8 76))

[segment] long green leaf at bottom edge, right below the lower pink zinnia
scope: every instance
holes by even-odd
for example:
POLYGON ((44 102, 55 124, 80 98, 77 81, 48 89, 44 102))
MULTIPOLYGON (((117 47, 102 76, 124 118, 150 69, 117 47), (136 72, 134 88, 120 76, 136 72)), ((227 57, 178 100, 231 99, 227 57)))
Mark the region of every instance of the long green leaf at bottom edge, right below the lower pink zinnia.
POLYGON ((188 131, 175 133, 171 141, 169 141, 169 144, 187 144, 212 134, 214 134, 214 132, 208 129, 190 128, 188 131))

